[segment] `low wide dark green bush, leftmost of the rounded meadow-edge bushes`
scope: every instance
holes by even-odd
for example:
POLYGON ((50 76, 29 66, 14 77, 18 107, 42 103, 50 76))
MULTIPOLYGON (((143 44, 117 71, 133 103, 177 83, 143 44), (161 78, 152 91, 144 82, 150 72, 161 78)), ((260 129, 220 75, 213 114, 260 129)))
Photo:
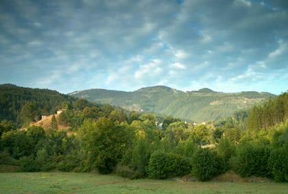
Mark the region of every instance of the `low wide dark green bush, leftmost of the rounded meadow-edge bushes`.
POLYGON ((165 179, 189 174, 191 165, 187 158, 178 154, 154 152, 149 159, 147 173, 149 178, 165 179))

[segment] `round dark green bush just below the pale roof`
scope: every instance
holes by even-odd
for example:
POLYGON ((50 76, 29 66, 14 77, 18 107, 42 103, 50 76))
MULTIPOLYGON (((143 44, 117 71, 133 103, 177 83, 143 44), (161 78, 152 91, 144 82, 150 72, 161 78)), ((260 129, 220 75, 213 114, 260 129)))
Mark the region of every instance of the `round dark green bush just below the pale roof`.
POLYGON ((198 149, 192 157, 191 173, 200 181, 211 180, 223 172, 223 160, 215 151, 198 149))

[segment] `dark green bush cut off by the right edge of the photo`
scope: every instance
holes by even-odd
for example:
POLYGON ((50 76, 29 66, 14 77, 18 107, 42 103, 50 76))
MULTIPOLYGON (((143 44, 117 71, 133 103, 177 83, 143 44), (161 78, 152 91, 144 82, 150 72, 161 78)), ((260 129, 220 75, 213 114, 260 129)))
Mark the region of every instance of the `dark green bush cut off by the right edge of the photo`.
POLYGON ((288 150, 280 148, 271 151, 268 167, 276 182, 288 181, 288 150))

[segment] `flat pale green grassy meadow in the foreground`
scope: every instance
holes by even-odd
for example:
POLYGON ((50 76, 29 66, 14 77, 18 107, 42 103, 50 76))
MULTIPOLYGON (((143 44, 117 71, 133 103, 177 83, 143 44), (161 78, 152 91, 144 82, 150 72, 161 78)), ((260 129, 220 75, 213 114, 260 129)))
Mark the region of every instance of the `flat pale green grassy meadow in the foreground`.
POLYGON ((95 173, 0 173, 0 193, 288 193, 288 184, 128 180, 95 173))

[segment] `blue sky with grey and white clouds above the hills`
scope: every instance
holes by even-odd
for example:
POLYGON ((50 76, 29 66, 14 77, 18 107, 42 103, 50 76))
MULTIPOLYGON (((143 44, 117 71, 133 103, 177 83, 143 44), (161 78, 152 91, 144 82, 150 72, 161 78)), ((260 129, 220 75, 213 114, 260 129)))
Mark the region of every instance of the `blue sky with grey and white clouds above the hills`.
POLYGON ((288 89, 288 1, 0 1, 0 84, 288 89))

